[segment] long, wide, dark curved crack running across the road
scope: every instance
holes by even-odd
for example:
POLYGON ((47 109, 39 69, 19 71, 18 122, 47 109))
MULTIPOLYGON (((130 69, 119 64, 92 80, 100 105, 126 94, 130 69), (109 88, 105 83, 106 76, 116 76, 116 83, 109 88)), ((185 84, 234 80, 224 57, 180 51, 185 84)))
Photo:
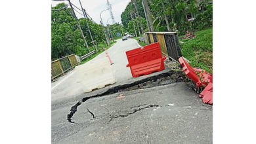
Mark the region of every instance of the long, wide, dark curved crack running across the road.
MULTIPOLYGON (((161 79, 163 77, 172 76, 173 74, 177 75, 178 73, 179 73, 178 71, 168 71, 168 72, 165 72, 165 73, 161 73, 160 75, 154 75, 152 77, 147 77, 146 79, 142 79, 140 81, 135 81, 135 82, 132 82, 132 83, 129 83, 129 84, 123 84, 123 85, 115 86, 114 88, 110 88, 110 89, 106 90, 105 92, 102 92, 101 94, 96 94, 94 96, 85 97, 81 101, 78 101, 74 106, 71 107, 70 113, 68 114, 68 122, 75 123, 75 122, 72 121, 72 118, 73 118, 73 115, 75 114, 75 112, 77 111, 77 107, 79 105, 81 105, 81 103, 84 103, 85 101, 87 101, 89 99, 99 98, 99 97, 102 97, 102 96, 107 96, 109 94, 114 94, 116 92, 119 92, 120 90, 124 90, 125 88, 130 88, 132 86, 136 86, 136 85, 142 84, 144 82, 148 82, 148 81, 156 82, 158 79, 161 79)), ((182 76, 179 76, 179 77, 182 77, 182 76)), ((179 81, 181 81, 181 79, 176 78, 175 82, 179 82, 179 81)))

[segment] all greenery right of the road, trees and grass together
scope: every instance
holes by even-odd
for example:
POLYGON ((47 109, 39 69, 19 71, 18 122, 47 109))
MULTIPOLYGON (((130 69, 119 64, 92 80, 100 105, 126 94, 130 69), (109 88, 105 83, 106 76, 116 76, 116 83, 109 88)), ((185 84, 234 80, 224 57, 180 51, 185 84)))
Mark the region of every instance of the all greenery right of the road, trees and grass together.
MULTIPOLYGON (((121 21, 129 33, 137 33, 134 37, 139 42, 139 33, 148 31, 142 1, 131 0, 121 14, 121 21), (133 2, 135 5, 133 5, 133 2), (138 12, 136 12, 136 7, 138 12), (139 13, 140 21, 137 13, 139 13), (133 18, 132 18, 133 16, 133 18), (140 23, 144 27, 140 28, 140 23)), ((151 31, 176 31, 181 42, 182 56, 189 60, 192 67, 205 69, 211 73, 213 69, 213 4, 211 0, 152 0, 148 1, 152 18, 151 31), (192 39, 181 39, 186 33, 195 33, 192 39)), ((140 45, 146 45, 139 42, 140 45)))

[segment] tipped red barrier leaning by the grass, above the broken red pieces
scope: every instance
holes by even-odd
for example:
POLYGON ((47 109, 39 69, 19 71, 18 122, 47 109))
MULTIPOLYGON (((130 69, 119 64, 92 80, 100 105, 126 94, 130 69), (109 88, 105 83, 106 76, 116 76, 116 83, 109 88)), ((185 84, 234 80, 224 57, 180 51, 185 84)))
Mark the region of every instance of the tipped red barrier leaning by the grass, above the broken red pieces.
POLYGON ((184 60, 184 58, 179 58, 179 62, 181 63, 181 66, 183 67, 183 71, 192 81, 196 83, 196 86, 201 86, 202 82, 200 81, 198 75, 196 75, 196 72, 194 69, 184 60))

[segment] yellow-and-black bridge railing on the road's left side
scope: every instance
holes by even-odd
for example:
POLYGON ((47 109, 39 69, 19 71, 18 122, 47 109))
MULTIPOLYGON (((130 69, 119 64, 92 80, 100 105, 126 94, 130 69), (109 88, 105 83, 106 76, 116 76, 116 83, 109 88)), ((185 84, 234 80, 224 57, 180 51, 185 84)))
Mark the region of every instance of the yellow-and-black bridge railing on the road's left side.
POLYGON ((54 60, 51 62, 52 80, 54 80, 59 75, 62 75, 66 71, 73 69, 76 65, 78 65, 78 62, 75 58, 75 54, 54 60))

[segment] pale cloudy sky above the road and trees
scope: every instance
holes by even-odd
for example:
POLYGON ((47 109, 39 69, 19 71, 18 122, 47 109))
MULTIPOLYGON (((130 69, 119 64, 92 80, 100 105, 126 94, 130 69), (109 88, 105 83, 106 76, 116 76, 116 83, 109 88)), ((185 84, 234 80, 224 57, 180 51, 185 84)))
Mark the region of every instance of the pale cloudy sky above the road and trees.
MULTIPOLYGON (((70 1, 76 7, 81 9, 79 0, 70 0, 70 1)), ((107 5, 106 5, 107 0, 80 0, 80 1, 83 6, 83 9, 86 10, 89 16, 91 16, 91 18, 93 18, 93 20, 96 23, 100 24, 100 12, 102 10, 107 9, 107 5)), ((112 5, 112 12, 116 22, 119 22, 121 24, 121 13, 125 10, 125 7, 128 5, 130 1, 131 0, 109 0, 110 4, 112 5)), ((63 3, 63 2, 68 4, 68 1, 52 1, 51 5, 52 7, 54 7, 58 3, 63 3)), ((83 14, 82 12, 80 13, 83 14)), ((81 14, 75 11, 75 15, 77 16, 77 18, 83 18, 83 15, 81 14)), ((104 22, 104 25, 112 24, 109 10, 102 12, 101 16, 102 16, 102 21, 104 22)))

